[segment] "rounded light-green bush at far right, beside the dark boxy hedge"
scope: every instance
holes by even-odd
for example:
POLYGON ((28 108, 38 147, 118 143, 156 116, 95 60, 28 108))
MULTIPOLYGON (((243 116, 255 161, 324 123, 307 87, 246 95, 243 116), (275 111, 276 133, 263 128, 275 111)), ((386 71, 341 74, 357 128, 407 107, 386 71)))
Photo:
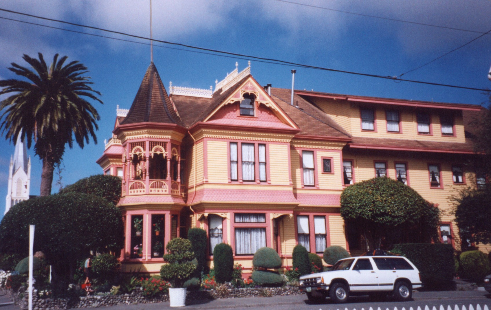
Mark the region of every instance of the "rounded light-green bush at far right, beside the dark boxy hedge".
POLYGON ((461 277, 481 282, 491 273, 490 261, 481 251, 467 251, 460 256, 461 277))

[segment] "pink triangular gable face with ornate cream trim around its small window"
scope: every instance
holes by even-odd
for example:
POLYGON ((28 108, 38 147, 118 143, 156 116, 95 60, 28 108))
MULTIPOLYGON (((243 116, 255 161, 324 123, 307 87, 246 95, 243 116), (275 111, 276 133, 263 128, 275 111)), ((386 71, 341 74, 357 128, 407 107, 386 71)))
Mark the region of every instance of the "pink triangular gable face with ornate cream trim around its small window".
POLYGON ((298 129, 297 124, 274 102, 252 76, 238 85, 203 121, 226 125, 298 129), (253 116, 240 114, 240 102, 245 95, 254 95, 255 97, 253 116))

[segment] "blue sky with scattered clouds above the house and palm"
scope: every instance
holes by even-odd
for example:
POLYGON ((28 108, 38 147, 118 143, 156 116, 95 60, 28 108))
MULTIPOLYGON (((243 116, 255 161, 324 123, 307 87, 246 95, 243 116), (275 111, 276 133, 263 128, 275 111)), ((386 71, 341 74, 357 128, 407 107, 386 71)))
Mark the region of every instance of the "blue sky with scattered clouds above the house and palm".
MULTIPOLYGON (((314 6, 365 15, 400 19, 450 28, 486 32, 491 29, 491 4, 484 0, 295 0, 314 6)), ((277 58, 309 65, 383 76, 398 76, 451 51, 480 33, 428 27, 338 11, 300 6, 277 0, 153 0, 153 37, 233 53, 277 58)), ((149 37, 148 0, 3 0, 0 8, 78 24, 149 37)), ((60 27, 96 35, 148 43, 122 35, 103 33, 0 11, 0 17, 60 27)), ((104 139, 111 136, 116 105, 129 109, 150 63, 146 44, 116 41, 0 18, 0 79, 15 78, 6 69, 11 62, 26 65, 23 54, 42 52, 47 62, 55 53, 85 64, 102 93, 104 105, 94 102, 101 115, 98 144, 74 146, 64 155, 62 183, 71 184, 102 173, 95 161, 102 155, 104 139)), ((404 75, 411 80, 476 88, 491 87, 491 34, 404 75)), ((160 47, 160 46, 165 46, 160 47)), ((154 47, 154 63, 164 85, 197 88, 215 86, 248 59, 211 56, 154 47)), ((262 85, 388 98, 481 104, 485 94, 432 85, 343 73, 274 65, 251 60, 251 72, 262 85)), ((0 100, 2 97, 0 97, 0 100)), ((8 164, 13 143, 0 137, 0 197, 7 194, 8 164)), ((31 195, 39 195, 41 162, 32 149, 31 195)), ((55 175, 55 180, 58 177, 55 175)), ((58 188, 53 186, 53 193, 58 188)), ((3 200, 2 200, 3 201, 3 200)), ((4 203, 0 202, 0 217, 4 203)))

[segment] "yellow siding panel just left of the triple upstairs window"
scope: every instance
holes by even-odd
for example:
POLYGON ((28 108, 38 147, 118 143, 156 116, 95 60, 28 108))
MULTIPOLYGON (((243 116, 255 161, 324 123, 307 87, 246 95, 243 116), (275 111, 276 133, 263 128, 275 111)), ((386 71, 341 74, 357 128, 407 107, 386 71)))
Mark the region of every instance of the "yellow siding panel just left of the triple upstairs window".
POLYGON ((226 141, 207 141, 208 182, 228 182, 226 141))

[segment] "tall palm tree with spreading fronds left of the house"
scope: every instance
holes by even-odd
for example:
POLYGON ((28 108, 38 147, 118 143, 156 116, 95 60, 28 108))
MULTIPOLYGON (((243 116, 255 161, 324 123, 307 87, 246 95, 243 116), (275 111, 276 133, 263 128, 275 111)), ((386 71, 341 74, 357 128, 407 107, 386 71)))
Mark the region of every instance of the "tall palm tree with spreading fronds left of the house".
POLYGON ((0 95, 14 93, 0 102, 3 111, 0 130, 10 141, 17 141, 21 135, 22 141, 27 139, 29 148, 34 140, 34 152, 43 163, 40 192, 47 196, 51 194, 53 171, 61 162, 66 143, 72 148, 75 140, 83 148, 90 137, 97 143, 94 129, 98 129, 99 113, 84 98, 103 102, 96 97, 101 93, 90 87, 93 84, 88 82, 90 77, 82 76, 88 72, 82 63, 72 61, 63 65, 68 56, 58 60, 56 54, 48 67, 43 55, 38 56, 39 59, 26 54, 22 57, 33 71, 15 62, 8 68, 28 81, 0 81, 3 87, 0 95))

